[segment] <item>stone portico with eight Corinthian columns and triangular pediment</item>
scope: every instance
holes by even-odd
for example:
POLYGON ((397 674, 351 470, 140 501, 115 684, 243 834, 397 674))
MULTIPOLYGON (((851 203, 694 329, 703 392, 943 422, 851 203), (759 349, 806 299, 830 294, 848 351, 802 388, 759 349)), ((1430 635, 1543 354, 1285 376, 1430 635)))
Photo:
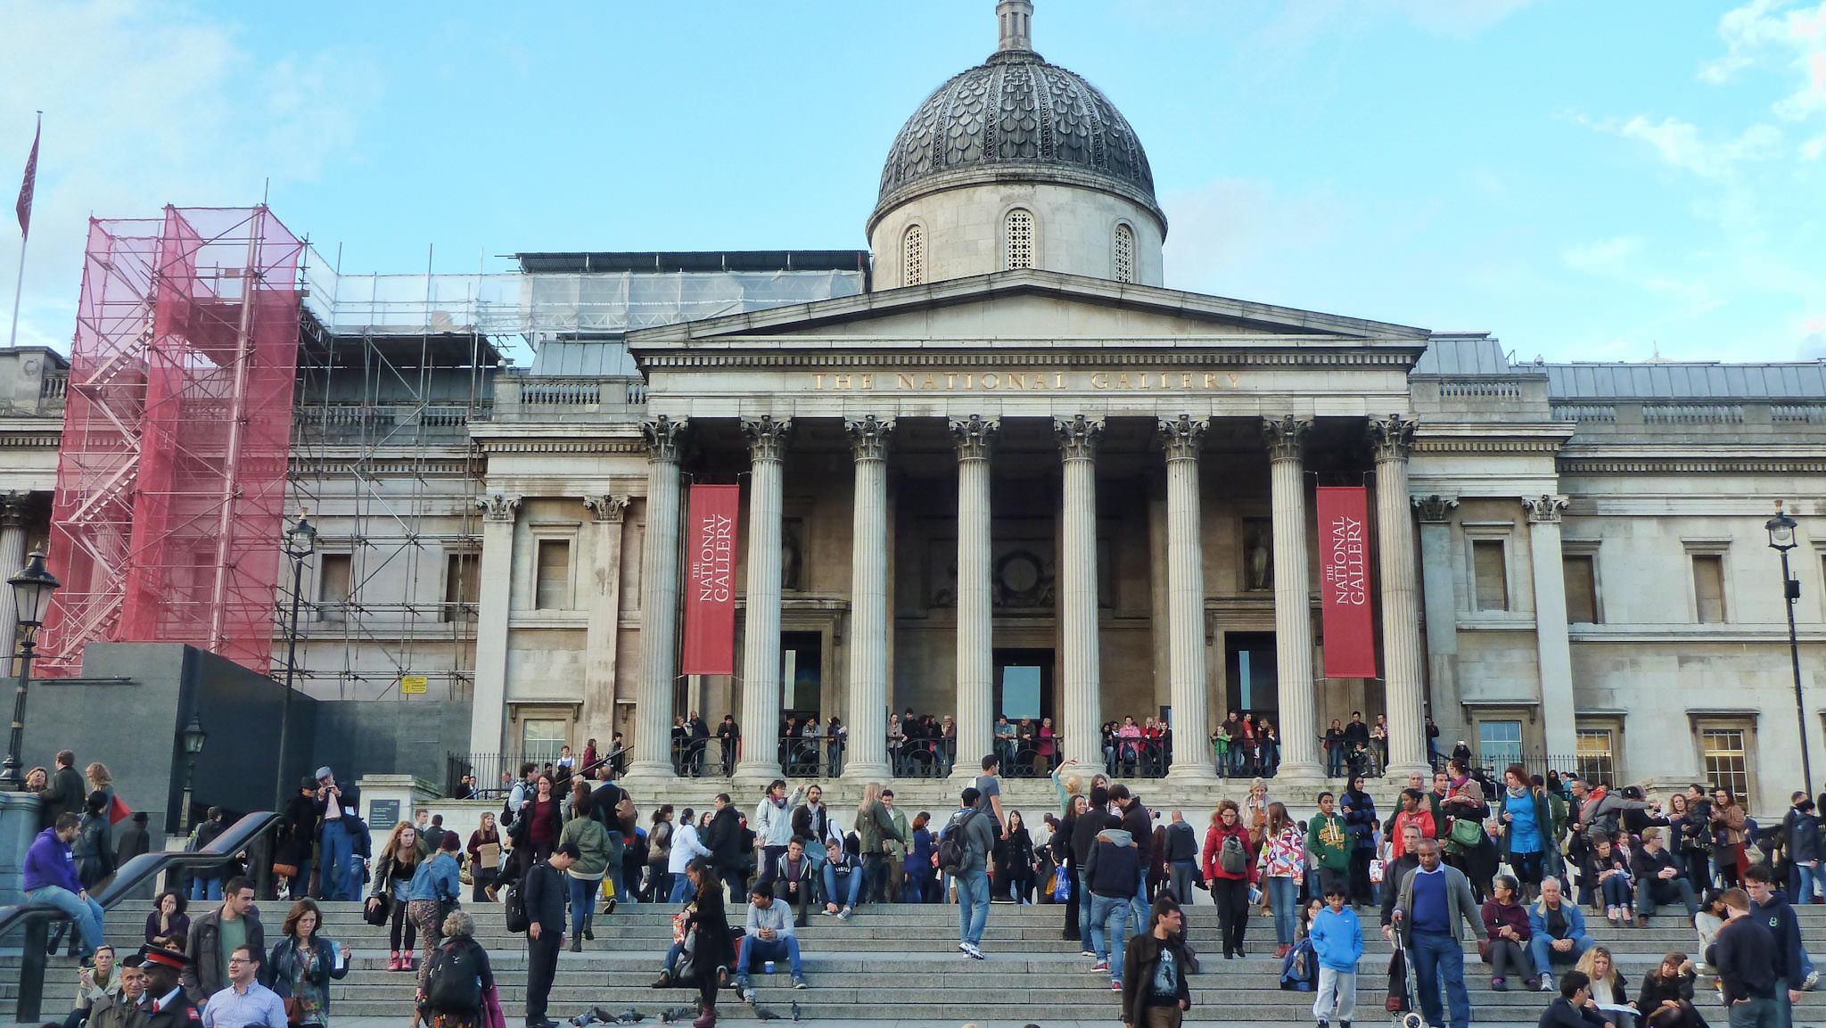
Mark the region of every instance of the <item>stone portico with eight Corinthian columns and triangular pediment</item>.
MULTIPOLYGON (((1280 727, 1284 776, 1320 778, 1307 495, 1320 477, 1395 477, 1371 460, 1371 427, 1411 435, 1406 369, 1424 345, 1399 325, 1037 270, 630 334, 652 466, 672 469, 648 480, 665 493, 648 498, 650 553, 676 550, 654 511, 683 502, 681 467, 747 491, 738 676, 694 694, 738 712, 738 776, 780 774, 771 738, 796 712, 842 719, 845 778, 886 778, 887 718, 904 708, 955 714, 964 774, 1019 703, 997 674, 1019 650, 1044 665, 1032 714, 1052 718, 1066 760, 1101 763, 1107 719, 1163 716, 1172 776, 1205 780, 1214 714, 1247 707, 1280 727), (824 546, 845 524, 847 553, 824 546), (1256 524, 1271 526, 1271 581, 1247 568, 1256 524), (824 623, 842 650, 816 708, 782 683, 787 621, 824 623), (1247 628, 1273 632, 1269 696, 1231 681, 1225 639, 1247 628)), ((1411 604, 1406 506, 1402 482, 1377 539, 1384 562, 1406 561, 1411 604)), ((643 610, 676 610, 676 562, 648 568, 643 610)), ((1417 624, 1391 626, 1413 634, 1410 654, 1417 624)), ((674 679, 674 646, 643 645, 635 752, 668 750, 674 679)), ((1390 676, 1386 699, 1419 725, 1417 676, 1390 676)))

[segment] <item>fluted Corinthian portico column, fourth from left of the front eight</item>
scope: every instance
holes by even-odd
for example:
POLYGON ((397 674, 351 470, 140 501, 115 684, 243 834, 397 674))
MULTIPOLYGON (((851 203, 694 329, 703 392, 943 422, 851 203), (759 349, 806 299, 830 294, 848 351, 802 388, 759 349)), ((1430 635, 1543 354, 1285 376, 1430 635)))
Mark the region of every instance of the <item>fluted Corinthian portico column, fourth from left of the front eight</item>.
POLYGON ((999 422, 951 420, 957 444, 957 778, 975 778, 990 752, 995 621, 990 601, 990 451, 999 422))

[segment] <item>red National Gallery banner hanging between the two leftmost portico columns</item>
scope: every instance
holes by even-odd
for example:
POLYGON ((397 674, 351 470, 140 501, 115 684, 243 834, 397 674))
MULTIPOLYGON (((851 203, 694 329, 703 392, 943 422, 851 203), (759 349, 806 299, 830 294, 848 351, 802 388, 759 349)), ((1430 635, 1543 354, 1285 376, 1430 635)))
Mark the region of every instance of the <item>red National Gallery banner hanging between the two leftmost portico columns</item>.
POLYGON ((683 674, 736 674, 736 511, 741 486, 690 488, 683 674))

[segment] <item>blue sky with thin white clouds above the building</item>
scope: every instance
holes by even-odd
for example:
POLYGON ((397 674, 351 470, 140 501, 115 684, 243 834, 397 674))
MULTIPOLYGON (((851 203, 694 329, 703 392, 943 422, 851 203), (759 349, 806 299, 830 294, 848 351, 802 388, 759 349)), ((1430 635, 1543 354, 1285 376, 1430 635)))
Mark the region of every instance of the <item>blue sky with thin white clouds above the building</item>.
MULTIPOLYGON (((1826 2, 1035 0, 1141 133, 1167 285, 1519 360, 1826 356, 1826 2)), ((0 192, 46 111, 20 341, 86 217, 274 212, 343 270, 862 248, 993 0, 0 0, 0 192)), ((15 223, 0 230, 11 307, 15 223)))

